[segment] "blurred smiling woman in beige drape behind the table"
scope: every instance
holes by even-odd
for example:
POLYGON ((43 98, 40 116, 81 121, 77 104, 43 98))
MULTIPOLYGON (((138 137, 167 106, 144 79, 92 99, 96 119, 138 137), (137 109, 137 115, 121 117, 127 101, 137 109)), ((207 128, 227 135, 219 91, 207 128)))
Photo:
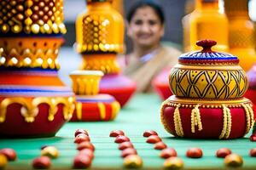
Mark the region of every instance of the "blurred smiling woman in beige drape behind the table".
POLYGON ((133 49, 125 55, 124 74, 137 82, 137 92, 148 92, 152 90, 152 79, 166 66, 177 64, 181 52, 160 43, 165 33, 165 16, 157 3, 135 3, 127 21, 127 35, 133 49))

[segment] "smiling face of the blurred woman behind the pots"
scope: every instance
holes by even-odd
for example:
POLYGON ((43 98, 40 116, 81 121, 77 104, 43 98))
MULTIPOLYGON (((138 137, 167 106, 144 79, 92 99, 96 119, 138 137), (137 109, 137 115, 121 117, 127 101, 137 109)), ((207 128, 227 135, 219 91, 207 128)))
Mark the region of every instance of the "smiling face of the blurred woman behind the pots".
POLYGON ((151 7, 138 8, 128 25, 127 34, 134 45, 142 48, 158 46, 164 35, 164 26, 151 7))

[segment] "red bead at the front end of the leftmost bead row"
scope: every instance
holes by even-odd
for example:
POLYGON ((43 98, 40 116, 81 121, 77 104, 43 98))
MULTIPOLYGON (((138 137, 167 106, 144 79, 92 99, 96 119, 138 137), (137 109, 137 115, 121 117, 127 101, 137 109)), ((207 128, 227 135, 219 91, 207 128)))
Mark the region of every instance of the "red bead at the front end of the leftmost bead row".
POLYGON ((78 155, 73 159, 73 167, 74 168, 87 168, 90 167, 91 159, 90 156, 78 155))

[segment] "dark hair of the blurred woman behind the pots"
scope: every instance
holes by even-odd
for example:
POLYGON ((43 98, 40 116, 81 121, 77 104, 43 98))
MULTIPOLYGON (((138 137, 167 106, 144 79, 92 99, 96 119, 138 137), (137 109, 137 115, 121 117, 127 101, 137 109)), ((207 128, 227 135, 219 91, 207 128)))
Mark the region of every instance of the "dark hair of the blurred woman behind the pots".
POLYGON ((137 12, 137 9, 143 8, 143 7, 153 8, 155 14, 157 14, 158 17, 160 18, 161 24, 165 23, 165 15, 164 15, 163 9, 160 7, 159 4, 154 3, 154 1, 152 1, 152 0, 151 1, 149 1, 149 0, 139 1, 131 6, 131 8, 128 11, 127 16, 126 16, 129 23, 131 22, 133 15, 137 12))

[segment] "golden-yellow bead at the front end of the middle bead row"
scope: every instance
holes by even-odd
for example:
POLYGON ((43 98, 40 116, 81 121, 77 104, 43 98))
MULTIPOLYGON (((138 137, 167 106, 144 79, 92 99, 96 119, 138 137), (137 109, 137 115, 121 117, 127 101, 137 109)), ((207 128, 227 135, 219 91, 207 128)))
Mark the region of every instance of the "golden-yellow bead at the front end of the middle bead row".
POLYGON ((143 160, 140 156, 130 155, 124 159, 124 167, 126 168, 139 168, 143 167, 143 160))

